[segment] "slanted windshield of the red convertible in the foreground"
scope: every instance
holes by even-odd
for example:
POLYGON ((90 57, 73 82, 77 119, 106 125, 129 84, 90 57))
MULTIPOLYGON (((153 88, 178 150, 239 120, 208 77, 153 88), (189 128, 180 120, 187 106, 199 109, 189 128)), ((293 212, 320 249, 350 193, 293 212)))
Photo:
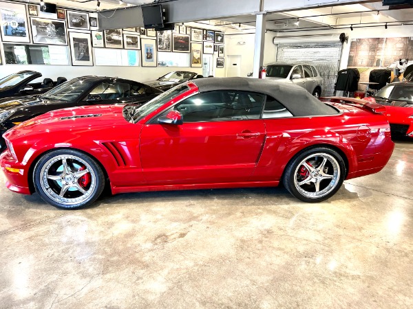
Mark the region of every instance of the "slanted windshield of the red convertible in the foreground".
POLYGON ((170 100, 176 98, 178 95, 184 93, 187 90, 189 90, 189 87, 186 84, 180 84, 176 87, 173 87, 172 89, 169 89, 168 91, 165 91, 161 95, 158 95, 156 98, 153 98, 152 100, 147 102, 147 104, 141 106, 126 105, 123 108, 123 117, 125 117, 128 122, 136 124, 136 122, 138 122, 140 119, 149 115, 156 109, 160 108, 160 106, 162 106, 166 102, 169 102, 170 100))

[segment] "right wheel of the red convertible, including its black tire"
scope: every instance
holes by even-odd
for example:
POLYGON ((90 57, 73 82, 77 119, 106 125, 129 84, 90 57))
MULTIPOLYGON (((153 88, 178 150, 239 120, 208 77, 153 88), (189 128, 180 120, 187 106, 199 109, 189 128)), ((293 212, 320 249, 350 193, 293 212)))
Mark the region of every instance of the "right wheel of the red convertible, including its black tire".
POLYGON ((343 184, 345 176, 346 164, 341 155, 331 148, 320 146, 302 150, 295 155, 284 170, 282 182, 288 192, 299 200, 318 203, 333 196, 343 184))

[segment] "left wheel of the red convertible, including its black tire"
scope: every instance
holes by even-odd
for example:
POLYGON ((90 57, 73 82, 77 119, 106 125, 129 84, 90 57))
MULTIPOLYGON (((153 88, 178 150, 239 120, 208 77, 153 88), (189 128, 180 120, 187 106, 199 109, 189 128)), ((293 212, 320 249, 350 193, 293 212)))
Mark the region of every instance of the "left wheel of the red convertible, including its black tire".
POLYGON ((61 208, 86 207, 105 187, 105 176, 94 159, 76 150, 53 150, 36 163, 36 192, 43 201, 61 208))

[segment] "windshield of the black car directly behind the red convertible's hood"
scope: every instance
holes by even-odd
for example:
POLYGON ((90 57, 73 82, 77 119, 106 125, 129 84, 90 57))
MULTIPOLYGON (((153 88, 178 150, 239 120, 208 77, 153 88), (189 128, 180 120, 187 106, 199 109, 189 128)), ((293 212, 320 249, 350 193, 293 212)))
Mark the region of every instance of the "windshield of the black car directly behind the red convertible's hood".
POLYGON ((47 91, 45 94, 41 95, 43 100, 61 100, 65 102, 75 102, 78 98, 87 91, 90 87, 95 84, 94 81, 89 80, 79 80, 74 78, 68 82, 63 82, 63 84, 55 87, 54 89, 47 91))

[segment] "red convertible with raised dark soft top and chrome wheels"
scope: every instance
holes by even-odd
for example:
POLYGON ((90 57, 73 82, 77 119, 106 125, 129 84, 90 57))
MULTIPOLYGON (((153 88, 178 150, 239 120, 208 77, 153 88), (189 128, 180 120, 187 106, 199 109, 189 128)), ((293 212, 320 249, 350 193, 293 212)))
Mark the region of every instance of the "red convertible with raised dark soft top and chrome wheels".
POLYGON ((306 202, 330 198, 344 179, 379 172, 394 144, 385 108, 322 103, 299 86, 203 78, 142 106, 52 111, 8 130, 6 186, 56 207, 153 190, 268 187, 306 202))

